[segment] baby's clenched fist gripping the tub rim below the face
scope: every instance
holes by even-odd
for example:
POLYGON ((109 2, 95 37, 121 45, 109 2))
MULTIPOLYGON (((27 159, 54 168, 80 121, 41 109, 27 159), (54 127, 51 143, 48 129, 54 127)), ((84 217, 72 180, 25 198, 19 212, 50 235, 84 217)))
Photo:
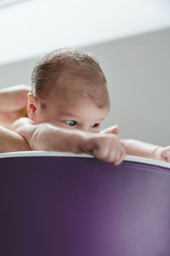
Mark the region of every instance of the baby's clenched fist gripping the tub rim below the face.
POLYGON ((93 154, 99 160, 119 165, 126 153, 119 138, 114 134, 92 134, 82 143, 82 152, 93 154))

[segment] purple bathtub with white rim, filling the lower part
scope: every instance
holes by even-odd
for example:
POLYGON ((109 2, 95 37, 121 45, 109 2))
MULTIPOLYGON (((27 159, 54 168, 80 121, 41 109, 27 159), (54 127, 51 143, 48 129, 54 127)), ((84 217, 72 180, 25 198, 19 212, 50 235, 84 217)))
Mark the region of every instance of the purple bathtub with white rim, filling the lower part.
POLYGON ((169 255, 169 164, 0 154, 0 256, 169 255))

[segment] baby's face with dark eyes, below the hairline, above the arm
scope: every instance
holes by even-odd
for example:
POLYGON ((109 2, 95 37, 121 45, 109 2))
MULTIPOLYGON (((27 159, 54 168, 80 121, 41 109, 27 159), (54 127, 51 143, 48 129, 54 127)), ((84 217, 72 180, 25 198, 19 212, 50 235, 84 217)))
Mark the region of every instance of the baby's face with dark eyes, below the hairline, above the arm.
POLYGON ((99 126, 109 112, 108 108, 98 108, 91 100, 79 102, 49 102, 34 120, 36 124, 50 122, 66 129, 99 132, 99 126))

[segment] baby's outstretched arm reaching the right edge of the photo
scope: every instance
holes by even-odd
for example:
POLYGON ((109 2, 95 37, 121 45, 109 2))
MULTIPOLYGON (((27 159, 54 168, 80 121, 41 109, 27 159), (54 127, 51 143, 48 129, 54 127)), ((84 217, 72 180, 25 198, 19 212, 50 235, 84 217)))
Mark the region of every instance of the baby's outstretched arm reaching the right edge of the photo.
POLYGON ((170 162, 170 147, 160 147, 137 140, 121 140, 127 154, 170 162))

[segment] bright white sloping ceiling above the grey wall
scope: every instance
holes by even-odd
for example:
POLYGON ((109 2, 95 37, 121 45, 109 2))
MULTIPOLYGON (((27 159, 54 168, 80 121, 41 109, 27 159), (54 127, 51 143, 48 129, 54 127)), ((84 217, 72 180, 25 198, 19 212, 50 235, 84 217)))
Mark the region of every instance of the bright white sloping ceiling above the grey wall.
POLYGON ((166 27, 168 0, 23 0, 0 9, 0 65, 166 27))

